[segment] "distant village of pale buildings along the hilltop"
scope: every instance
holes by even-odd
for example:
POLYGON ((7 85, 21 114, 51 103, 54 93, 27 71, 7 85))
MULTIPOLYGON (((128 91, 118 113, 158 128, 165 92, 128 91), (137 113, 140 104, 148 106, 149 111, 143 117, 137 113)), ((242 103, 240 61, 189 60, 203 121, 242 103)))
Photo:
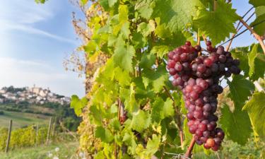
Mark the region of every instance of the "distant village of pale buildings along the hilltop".
POLYGON ((14 88, 13 86, 4 87, 0 90, 0 103, 7 101, 13 102, 29 102, 43 105, 47 102, 57 102, 61 105, 69 104, 70 98, 63 95, 52 93, 49 88, 14 88))

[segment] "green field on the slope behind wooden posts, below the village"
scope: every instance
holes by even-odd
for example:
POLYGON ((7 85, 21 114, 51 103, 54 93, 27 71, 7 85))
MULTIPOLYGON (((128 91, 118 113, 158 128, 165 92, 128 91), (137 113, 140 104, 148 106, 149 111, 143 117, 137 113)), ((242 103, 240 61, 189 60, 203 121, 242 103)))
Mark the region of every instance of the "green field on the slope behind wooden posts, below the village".
POLYGON ((13 129, 31 124, 49 123, 49 117, 43 114, 4 111, 4 114, 0 115, 0 127, 8 127, 11 119, 13 120, 13 129))

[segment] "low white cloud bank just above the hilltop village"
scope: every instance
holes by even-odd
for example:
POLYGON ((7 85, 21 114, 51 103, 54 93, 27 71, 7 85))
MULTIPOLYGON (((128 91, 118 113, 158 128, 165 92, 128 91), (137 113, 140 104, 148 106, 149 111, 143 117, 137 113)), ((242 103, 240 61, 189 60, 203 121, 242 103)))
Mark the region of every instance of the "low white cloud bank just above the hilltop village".
POLYGON ((54 93, 70 96, 72 94, 83 96, 83 78, 76 73, 64 70, 55 71, 45 61, 27 61, 0 57, 0 87, 4 86, 40 86, 49 87, 54 93))

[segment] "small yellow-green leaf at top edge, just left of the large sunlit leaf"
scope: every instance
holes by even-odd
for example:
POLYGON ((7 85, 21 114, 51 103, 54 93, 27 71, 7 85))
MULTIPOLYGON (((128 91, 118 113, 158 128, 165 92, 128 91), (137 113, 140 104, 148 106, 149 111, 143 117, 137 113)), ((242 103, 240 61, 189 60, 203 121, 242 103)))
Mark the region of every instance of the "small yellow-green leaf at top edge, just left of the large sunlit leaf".
POLYGON ((138 0, 135 4, 135 10, 139 11, 140 16, 149 19, 153 13, 152 0, 138 0))

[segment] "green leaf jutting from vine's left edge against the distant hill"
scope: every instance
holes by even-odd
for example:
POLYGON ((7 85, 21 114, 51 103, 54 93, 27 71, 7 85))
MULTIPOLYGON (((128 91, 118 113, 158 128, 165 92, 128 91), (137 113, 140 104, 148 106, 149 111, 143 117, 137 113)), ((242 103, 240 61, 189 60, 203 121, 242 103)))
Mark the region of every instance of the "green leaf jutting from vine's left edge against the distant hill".
POLYGON ((77 95, 72 95, 70 107, 73 108, 76 115, 79 116, 82 113, 83 107, 86 107, 87 103, 88 100, 86 97, 80 100, 77 95))

